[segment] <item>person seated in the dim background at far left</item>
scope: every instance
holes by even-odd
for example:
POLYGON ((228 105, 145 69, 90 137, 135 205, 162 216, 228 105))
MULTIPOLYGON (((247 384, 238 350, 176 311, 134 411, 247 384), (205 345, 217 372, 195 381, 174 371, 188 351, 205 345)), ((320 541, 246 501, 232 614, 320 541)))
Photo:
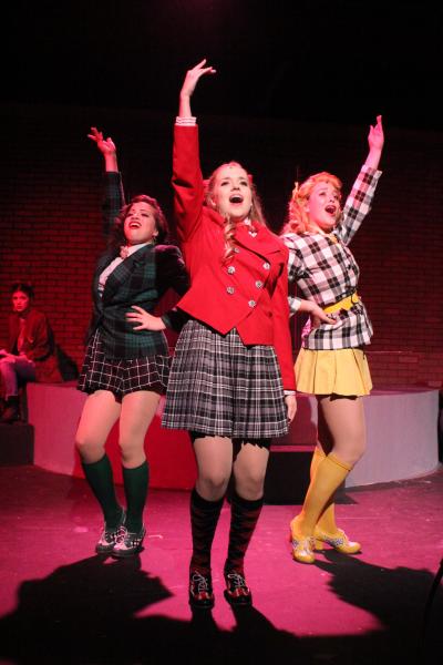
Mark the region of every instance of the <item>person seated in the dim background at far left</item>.
POLYGON ((20 419, 19 387, 28 381, 62 381, 54 339, 47 316, 33 307, 34 291, 25 283, 11 288, 8 350, 0 350, 1 391, 4 409, 0 422, 20 419))

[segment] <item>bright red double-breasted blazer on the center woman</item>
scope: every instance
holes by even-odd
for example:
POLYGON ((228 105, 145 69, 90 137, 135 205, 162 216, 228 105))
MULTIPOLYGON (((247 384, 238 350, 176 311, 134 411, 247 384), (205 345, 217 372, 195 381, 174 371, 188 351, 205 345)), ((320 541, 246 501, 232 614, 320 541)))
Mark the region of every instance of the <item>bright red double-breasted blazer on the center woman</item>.
POLYGON ((233 328, 245 345, 270 345, 285 389, 295 389, 289 331, 288 249, 266 226, 251 237, 236 231, 236 253, 225 254, 224 218, 204 204, 198 127, 175 125, 173 155, 177 234, 190 288, 177 307, 222 335, 233 328))

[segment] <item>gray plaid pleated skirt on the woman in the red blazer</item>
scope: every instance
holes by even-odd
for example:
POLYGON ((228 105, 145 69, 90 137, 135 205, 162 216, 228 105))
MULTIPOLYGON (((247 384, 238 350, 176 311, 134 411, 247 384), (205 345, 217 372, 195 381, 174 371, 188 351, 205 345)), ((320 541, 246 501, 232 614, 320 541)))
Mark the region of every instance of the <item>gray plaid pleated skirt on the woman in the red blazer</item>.
POLYGON ((162 426, 231 439, 287 433, 280 367, 274 347, 245 346, 189 320, 173 358, 162 426))

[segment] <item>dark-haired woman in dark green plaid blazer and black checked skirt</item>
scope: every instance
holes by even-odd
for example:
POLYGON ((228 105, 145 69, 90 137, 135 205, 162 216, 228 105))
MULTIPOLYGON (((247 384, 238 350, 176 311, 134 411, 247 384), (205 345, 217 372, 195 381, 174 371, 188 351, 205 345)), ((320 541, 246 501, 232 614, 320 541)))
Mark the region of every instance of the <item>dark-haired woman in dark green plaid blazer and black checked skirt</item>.
MULTIPOLYGON (((95 550, 122 557, 142 549, 148 487, 144 440, 169 371, 164 334, 141 330, 134 316, 141 310, 153 311, 169 287, 182 296, 188 288, 188 277, 179 249, 162 244, 167 225, 158 203, 140 195, 125 205, 115 145, 95 127, 91 131, 89 136, 105 163, 103 211, 110 245, 97 262, 93 279, 94 311, 79 379, 79 389, 89 397, 76 447, 104 515, 95 550), (104 448, 119 419, 126 510, 117 502, 104 448)), ((162 318, 166 326, 175 327, 179 314, 172 310, 162 318)))

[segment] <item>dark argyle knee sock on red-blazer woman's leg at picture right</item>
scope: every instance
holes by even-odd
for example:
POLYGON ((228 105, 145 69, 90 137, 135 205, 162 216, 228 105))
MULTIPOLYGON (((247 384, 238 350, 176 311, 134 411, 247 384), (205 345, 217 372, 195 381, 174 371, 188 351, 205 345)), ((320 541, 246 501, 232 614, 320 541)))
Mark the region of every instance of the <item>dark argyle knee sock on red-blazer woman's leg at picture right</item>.
POLYGON ((225 572, 244 573, 244 559, 260 515, 264 499, 248 501, 234 492, 230 502, 230 530, 225 572))

